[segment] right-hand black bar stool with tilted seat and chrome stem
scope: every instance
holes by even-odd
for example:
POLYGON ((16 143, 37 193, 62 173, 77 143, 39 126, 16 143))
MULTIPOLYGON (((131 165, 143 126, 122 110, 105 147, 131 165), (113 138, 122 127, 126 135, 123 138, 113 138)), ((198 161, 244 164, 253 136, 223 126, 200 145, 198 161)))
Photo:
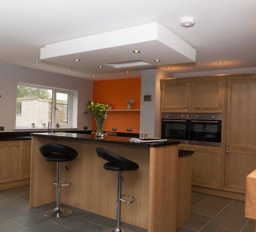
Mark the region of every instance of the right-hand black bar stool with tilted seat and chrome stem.
POLYGON ((124 181, 124 177, 122 175, 122 171, 132 171, 137 170, 139 165, 131 160, 125 159, 113 152, 105 150, 103 148, 97 147, 96 148, 97 154, 99 157, 109 161, 108 163, 104 164, 104 168, 111 171, 118 172, 118 180, 117 180, 117 210, 116 210, 116 227, 113 229, 106 229, 104 232, 133 232, 127 228, 121 228, 121 201, 125 203, 133 203, 135 198, 130 195, 121 195, 121 182, 124 181), (121 198, 121 196, 126 196, 133 198, 132 201, 125 201, 121 198))

